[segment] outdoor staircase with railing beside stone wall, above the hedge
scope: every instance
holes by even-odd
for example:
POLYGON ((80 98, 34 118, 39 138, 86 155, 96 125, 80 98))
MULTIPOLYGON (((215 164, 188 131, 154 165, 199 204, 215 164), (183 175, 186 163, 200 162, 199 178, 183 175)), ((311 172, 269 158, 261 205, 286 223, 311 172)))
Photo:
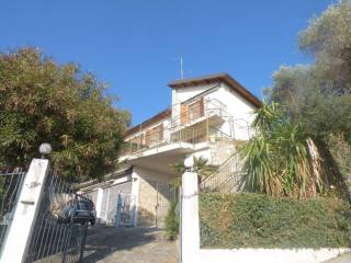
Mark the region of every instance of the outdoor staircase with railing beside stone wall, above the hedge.
POLYGON ((238 152, 223 162, 218 171, 201 182, 200 188, 204 192, 238 192, 242 185, 242 160, 238 152))

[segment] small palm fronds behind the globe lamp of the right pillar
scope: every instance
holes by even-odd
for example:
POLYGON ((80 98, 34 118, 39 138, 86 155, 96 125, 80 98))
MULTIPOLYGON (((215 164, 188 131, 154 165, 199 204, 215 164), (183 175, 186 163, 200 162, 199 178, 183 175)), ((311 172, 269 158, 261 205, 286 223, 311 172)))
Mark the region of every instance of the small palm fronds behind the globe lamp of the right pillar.
MULTIPOLYGON (((185 172, 184 159, 179 162, 171 163, 171 169, 177 172, 177 178, 173 180, 173 185, 179 187, 182 184, 182 174, 185 172)), ((204 157, 194 157, 193 171, 197 173, 200 180, 210 176, 217 172, 218 168, 213 164, 208 164, 208 160, 204 157)), ((200 182, 199 182, 200 183, 200 182)))

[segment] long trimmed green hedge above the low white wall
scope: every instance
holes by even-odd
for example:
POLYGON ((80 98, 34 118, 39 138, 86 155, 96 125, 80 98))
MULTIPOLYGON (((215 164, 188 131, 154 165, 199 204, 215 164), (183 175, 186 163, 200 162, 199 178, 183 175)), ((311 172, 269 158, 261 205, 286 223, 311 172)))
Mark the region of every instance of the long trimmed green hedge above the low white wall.
POLYGON ((201 194, 201 243, 205 248, 350 247, 350 208, 330 198, 201 194))

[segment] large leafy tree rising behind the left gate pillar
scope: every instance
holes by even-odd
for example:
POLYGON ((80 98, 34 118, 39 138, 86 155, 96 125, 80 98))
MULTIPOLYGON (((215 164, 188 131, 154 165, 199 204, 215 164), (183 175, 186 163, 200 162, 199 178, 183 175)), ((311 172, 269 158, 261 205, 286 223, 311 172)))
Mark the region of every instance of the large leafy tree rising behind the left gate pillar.
POLYGON ((34 48, 0 54, 0 165, 27 165, 47 141, 63 175, 101 176, 114 168, 129 119, 113 103, 105 84, 76 64, 34 48))

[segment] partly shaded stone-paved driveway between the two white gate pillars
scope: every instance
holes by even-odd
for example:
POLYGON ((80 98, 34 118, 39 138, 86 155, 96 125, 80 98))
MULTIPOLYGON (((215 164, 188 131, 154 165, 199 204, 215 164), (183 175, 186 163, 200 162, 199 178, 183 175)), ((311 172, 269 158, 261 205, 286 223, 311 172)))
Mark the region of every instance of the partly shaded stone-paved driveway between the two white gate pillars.
POLYGON ((155 228, 89 228, 84 263, 177 263, 176 242, 155 228))

